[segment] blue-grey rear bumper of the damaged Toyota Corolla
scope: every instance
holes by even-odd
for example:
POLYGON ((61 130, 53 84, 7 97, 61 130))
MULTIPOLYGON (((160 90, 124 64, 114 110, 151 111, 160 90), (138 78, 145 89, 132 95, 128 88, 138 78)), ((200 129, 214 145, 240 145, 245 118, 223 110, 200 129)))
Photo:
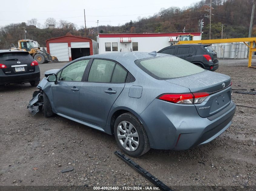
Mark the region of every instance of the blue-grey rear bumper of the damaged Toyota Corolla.
POLYGON ((227 108, 208 119, 200 117, 194 105, 155 99, 140 117, 151 148, 187 150, 212 141, 231 125, 236 106, 231 101, 227 108))

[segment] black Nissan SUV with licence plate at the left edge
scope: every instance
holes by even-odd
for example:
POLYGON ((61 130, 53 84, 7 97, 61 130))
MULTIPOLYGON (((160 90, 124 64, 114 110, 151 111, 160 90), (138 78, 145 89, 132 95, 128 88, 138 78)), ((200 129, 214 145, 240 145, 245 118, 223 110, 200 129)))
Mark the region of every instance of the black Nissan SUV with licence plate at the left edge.
POLYGON ((28 52, 0 50, 0 85, 30 83, 37 86, 39 81, 38 62, 28 52))

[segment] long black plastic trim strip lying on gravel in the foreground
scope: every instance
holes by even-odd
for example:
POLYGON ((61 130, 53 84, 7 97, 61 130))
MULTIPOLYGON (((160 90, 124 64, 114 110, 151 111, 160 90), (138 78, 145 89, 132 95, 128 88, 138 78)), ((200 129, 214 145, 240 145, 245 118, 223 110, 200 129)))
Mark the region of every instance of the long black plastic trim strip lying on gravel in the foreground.
POLYGON ((149 173, 147 170, 143 169, 132 161, 130 158, 127 158, 124 154, 122 154, 120 151, 114 152, 119 158, 121 158, 123 161, 125 161, 128 165, 130 165, 133 169, 135 169, 137 172, 139 172, 142 176, 144 176, 146 179, 148 179, 151 183, 153 183, 155 186, 160 188, 160 190, 164 191, 172 191, 168 186, 166 186, 164 183, 162 183, 160 180, 158 180, 156 177, 154 177, 151 173, 149 173))

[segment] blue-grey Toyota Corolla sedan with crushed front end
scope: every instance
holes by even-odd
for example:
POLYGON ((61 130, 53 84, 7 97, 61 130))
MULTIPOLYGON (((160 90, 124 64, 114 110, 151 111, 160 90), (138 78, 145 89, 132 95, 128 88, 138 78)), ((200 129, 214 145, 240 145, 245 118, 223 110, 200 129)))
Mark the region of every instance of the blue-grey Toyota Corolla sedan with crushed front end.
POLYGON ((46 73, 28 105, 33 114, 114 134, 132 157, 208 143, 231 125, 236 110, 229 76, 166 54, 85 56, 46 73))

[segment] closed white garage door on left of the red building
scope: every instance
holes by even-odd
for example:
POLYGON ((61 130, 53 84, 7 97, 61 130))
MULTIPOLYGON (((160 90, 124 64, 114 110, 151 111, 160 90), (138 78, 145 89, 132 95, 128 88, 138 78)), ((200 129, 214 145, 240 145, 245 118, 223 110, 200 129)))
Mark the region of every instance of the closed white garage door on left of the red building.
POLYGON ((59 61, 69 61, 68 43, 49 43, 50 53, 59 61))

